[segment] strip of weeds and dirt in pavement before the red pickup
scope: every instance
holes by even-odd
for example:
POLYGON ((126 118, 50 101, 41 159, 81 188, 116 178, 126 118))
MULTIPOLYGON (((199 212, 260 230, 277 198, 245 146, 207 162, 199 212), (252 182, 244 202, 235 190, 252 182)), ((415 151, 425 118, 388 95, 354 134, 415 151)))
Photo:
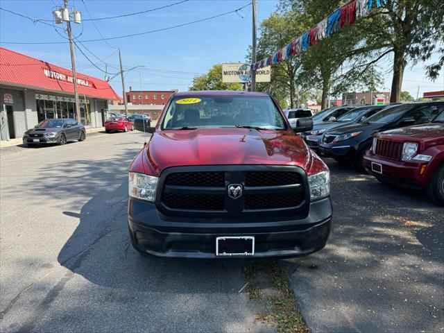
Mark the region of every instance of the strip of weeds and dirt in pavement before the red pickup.
POLYGON ((278 326, 278 332, 282 333, 310 332, 299 314, 296 298, 289 287, 289 280, 276 260, 267 260, 255 265, 249 264, 244 267, 244 274, 250 282, 248 289, 250 299, 263 299, 268 305, 268 313, 262 312, 256 315, 258 321, 275 323, 278 326), (273 295, 262 296, 261 289, 255 283, 258 273, 266 275, 267 288, 275 291, 273 295))

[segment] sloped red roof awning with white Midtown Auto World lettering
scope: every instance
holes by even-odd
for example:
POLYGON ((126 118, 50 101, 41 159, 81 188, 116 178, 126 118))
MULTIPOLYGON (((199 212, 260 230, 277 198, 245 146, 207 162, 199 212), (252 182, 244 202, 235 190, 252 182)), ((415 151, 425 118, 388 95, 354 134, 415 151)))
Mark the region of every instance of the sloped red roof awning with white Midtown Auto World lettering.
MULTIPOLYGON (((72 71, 0 47, 0 83, 74 94, 72 71)), ((119 100, 105 80, 77 72, 80 96, 119 100)))

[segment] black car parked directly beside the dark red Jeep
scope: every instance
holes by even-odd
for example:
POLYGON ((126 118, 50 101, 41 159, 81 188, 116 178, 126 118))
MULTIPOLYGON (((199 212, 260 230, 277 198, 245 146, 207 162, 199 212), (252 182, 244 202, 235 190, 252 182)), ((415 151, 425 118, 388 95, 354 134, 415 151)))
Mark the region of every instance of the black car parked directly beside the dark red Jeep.
POLYGON ((408 103, 388 107, 362 123, 327 130, 319 144, 319 153, 333 157, 341 164, 355 164, 357 169, 364 171, 364 155, 371 147, 375 133, 429 123, 443 110, 444 101, 408 103))

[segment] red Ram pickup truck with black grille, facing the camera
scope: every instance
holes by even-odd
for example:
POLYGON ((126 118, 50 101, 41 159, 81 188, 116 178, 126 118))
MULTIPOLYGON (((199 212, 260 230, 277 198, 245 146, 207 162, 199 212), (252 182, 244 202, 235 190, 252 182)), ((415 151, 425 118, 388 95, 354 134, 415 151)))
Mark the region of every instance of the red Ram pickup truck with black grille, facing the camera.
POLYGON ((278 103, 257 92, 178 92, 130 166, 130 239, 162 257, 297 257, 325 246, 330 172, 278 103))

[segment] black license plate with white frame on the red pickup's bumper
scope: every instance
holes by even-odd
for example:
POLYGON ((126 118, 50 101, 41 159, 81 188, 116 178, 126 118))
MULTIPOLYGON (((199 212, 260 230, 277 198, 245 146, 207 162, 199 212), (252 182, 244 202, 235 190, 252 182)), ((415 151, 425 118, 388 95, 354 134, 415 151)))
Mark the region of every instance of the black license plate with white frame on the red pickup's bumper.
POLYGON ((255 237, 225 236, 216 237, 218 257, 248 256, 255 254, 255 237))

